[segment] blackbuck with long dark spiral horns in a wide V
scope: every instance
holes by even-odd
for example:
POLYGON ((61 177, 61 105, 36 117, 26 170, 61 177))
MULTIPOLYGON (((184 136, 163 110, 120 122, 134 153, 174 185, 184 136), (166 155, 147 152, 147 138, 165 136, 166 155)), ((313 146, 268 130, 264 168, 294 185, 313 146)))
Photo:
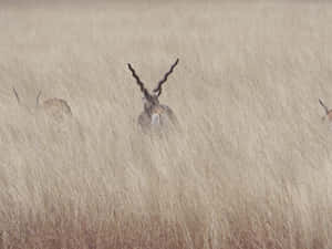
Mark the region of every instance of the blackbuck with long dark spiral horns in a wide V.
POLYGON ((136 80, 136 83, 144 95, 144 111, 138 116, 138 125, 143 132, 166 131, 170 127, 178 127, 177 118, 172 108, 159 103, 159 96, 163 92, 162 86, 167 81, 169 74, 173 73, 177 63, 178 59, 158 82, 157 86, 153 90, 153 93, 149 93, 149 91, 144 86, 144 83, 141 81, 139 76, 137 76, 133 66, 129 63, 127 64, 133 77, 136 80))

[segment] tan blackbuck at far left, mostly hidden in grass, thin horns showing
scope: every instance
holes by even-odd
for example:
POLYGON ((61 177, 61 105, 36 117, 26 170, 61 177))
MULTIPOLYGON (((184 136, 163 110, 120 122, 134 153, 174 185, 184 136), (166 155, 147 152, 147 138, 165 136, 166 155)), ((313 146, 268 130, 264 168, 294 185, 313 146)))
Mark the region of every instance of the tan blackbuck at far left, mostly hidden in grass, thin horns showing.
MULTIPOLYGON (((17 97, 17 101, 19 105, 23 106, 21 103, 21 98, 17 92, 17 90, 13 87, 13 93, 17 97)), ((39 113, 46 114, 49 117, 51 117, 55 122, 62 122, 66 117, 72 116, 72 111, 70 105, 66 103, 66 101, 62 98, 48 98, 45 101, 40 102, 41 91, 38 93, 35 98, 35 111, 39 113)), ((27 106, 25 106, 27 107, 27 106)), ((28 108, 30 113, 34 113, 30 108, 28 108)))

